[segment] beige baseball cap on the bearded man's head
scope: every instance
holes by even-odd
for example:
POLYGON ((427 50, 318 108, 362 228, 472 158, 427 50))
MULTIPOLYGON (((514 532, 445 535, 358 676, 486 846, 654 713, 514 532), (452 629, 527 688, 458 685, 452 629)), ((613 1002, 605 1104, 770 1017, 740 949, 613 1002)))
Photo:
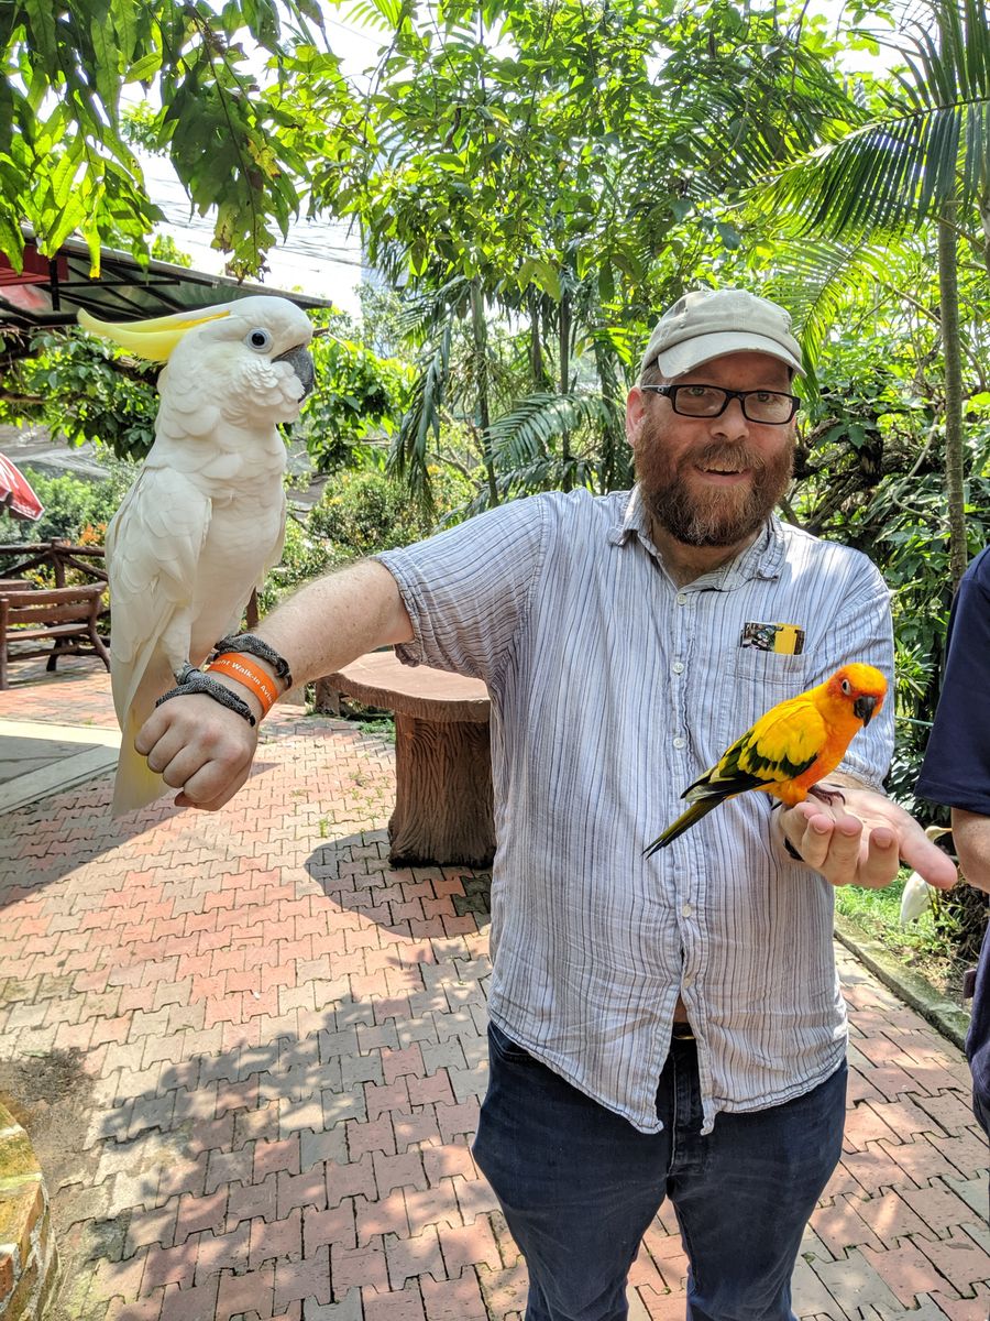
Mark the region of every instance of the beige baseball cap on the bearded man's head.
POLYGON ((746 289, 693 289, 657 321, 640 371, 656 363, 665 376, 680 376, 725 353, 744 351, 768 353, 804 373, 784 308, 746 289))

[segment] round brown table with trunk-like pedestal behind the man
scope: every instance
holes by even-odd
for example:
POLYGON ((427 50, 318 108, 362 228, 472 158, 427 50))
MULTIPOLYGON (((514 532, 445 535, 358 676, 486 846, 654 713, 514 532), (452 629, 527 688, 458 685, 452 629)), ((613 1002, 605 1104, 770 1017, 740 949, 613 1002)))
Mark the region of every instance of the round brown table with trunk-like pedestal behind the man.
POLYGON ((395 712, 389 863, 491 867, 491 701, 480 679, 404 666, 392 651, 372 651, 321 683, 395 712))

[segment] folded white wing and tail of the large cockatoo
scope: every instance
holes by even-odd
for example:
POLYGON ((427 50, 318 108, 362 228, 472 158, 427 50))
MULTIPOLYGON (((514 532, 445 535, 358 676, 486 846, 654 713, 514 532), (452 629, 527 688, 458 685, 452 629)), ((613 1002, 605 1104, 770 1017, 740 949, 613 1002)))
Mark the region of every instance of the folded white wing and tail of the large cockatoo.
POLYGON ((168 791, 133 741, 189 655, 189 612, 210 511, 210 499, 182 473, 145 468, 107 531, 110 674, 123 731, 114 815, 168 791))

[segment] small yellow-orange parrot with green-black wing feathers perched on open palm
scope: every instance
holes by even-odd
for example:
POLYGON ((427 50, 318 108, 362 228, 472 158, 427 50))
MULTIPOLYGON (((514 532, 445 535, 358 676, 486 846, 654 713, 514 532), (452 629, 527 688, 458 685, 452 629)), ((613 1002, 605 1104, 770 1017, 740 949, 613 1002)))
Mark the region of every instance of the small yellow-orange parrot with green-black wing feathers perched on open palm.
POLYGON ((887 680, 870 664, 846 664, 825 683, 771 707, 737 738, 700 779, 681 794, 690 807, 645 849, 665 848, 714 807, 758 789, 793 807, 808 794, 833 794, 814 786, 842 761, 853 736, 883 705, 887 680))

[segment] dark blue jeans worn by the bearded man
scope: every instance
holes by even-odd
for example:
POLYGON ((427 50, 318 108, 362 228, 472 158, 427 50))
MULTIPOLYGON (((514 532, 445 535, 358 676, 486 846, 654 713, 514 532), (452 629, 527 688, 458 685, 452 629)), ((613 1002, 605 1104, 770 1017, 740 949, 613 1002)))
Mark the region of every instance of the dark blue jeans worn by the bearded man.
POLYGON ((719 1114, 701 1136, 693 1042, 673 1041, 664 1128, 640 1133, 488 1028, 474 1155, 529 1271, 525 1321, 624 1321, 640 1239, 671 1198, 689 1321, 793 1321, 791 1273, 842 1149, 846 1066, 804 1096, 719 1114))

